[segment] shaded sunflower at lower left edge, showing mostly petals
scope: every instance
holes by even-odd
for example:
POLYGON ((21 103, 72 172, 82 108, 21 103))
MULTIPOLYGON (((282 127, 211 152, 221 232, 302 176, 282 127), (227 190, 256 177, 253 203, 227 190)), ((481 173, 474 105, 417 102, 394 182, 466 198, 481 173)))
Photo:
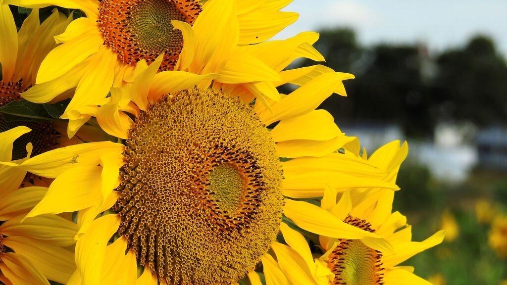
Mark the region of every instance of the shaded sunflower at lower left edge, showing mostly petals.
MULTIPOLYGON (((20 126, 0 132, 0 161, 11 161, 13 142, 29 131, 20 126)), ((27 156, 14 162, 25 161, 30 152, 29 144, 27 156)), ((20 168, 0 167, 0 282, 49 285, 47 279, 51 279, 65 283, 76 265, 73 253, 64 247, 75 243, 78 227, 55 215, 22 222, 47 192, 45 187, 19 188, 25 175, 20 168)))

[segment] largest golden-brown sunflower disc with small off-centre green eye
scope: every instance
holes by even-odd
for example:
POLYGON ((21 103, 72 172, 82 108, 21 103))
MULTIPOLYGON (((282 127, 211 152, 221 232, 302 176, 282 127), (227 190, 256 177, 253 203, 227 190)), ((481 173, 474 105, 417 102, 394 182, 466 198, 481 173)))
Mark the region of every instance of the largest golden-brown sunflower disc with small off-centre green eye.
POLYGON ((220 91, 169 95, 130 131, 114 209, 141 265, 171 284, 255 267, 281 221, 281 165, 251 107, 220 91))

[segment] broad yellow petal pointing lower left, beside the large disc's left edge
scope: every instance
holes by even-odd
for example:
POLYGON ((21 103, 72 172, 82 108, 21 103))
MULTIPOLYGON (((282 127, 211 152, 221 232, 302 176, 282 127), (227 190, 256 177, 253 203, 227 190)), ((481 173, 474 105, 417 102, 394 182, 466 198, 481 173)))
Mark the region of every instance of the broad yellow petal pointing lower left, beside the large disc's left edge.
POLYGON ((101 167, 76 166, 58 176, 48 193, 26 217, 73 212, 101 202, 101 167), (73 185, 69 189, 69 185, 73 185))

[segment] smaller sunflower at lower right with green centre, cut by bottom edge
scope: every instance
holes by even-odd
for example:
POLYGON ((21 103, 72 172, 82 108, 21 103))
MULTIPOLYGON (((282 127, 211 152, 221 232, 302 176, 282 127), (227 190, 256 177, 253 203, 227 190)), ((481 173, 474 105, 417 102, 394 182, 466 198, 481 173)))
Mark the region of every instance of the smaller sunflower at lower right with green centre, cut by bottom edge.
MULTIPOLYGON (((338 203, 336 197, 336 191, 328 188, 321 201, 318 219, 325 217, 337 225, 338 221, 343 221, 356 230, 376 233, 392 246, 390 250, 379 250, 369 237, 321 236, 323 254, 314 260, 303 235, 284 226, 280 230, 288 245, 272 245, 277 262, 271 256, 268 258, 271 262, 263 262, 266 280, 282 278, 294 284, 322 285, 430 284, 413 274, 414 268, 397 265, 441 243, 444 231, 437 232, 422 242, 412 241, 411 226, 406 224, 407 219, 400 212, 391 212, 392 195, 385 191, 370 195, 358 204, 352 202, 349 191, 343 193, 338 203)), ((291 201, 288 206, 300 207, 302 202, 291 201)), ((310 207, 318 208, 315 205, 310 207)), ((309 222, 300 223, 299 226, 303 229, 311 228, 308 224, 309 222)), ((257 277, 256 274, 251 276, 251 279, 257 277)))

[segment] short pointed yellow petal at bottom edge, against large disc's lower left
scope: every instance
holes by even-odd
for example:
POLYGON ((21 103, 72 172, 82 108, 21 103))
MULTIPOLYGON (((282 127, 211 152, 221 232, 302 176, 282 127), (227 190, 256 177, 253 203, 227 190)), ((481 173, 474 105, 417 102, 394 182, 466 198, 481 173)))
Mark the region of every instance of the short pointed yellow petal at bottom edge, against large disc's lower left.
POLYGON ((102 285, 135 285, 137 264, 135 254, 128 250, 127 239, 120 237, 105 248, 102 266, 102 285), (125 251, 127 254, 125 254, 125 251))

